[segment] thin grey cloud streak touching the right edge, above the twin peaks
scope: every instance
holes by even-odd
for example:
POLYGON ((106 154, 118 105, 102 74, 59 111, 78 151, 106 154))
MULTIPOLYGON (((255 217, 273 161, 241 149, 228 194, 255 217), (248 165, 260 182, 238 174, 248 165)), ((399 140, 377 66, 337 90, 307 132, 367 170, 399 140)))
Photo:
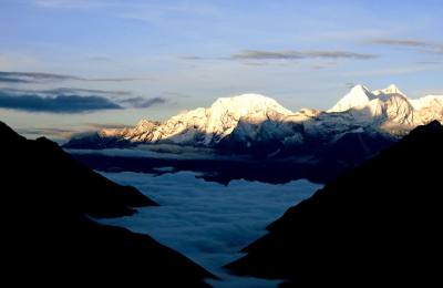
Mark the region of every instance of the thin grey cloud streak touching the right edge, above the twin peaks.
POLYGON ((442 53, 443 54, 443 44, 425 42, 421 40, 412 40, 412 39, 372 39, 368 41, 370 44, 374 45, 389 45, 389 47, 399 47, 399 48, 409 48, 415 49, 419 52, 424 53, 442 53))

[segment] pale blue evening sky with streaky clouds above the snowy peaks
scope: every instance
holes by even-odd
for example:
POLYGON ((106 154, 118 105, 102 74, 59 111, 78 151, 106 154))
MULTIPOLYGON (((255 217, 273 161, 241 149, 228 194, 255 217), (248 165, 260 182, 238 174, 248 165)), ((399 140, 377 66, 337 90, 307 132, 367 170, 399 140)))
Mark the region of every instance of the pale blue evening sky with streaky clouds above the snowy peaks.
POLYGON ((0 120, 68 137, 260 93, 443 94, 440 0, 0 0, 0 120))

